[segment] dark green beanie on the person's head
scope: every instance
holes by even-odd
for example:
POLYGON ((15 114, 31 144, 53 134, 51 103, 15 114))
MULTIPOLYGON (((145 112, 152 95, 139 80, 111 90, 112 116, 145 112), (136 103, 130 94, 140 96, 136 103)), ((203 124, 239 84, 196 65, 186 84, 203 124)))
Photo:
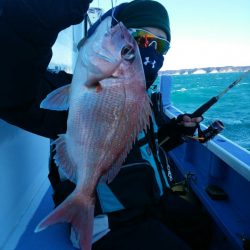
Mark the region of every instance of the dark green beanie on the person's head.
POLYGON ((154 27, 163 30, 171 40, 168 12, 156 1, 134 0, 129 2, 116 18, 127 28, 154 27))

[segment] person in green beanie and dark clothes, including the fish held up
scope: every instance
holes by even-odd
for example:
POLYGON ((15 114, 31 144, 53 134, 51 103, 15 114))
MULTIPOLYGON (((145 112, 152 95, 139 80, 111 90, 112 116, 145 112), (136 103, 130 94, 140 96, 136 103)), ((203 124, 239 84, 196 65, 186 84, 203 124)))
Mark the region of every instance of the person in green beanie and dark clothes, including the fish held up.
POLYGON ((168 13, 150 0, 116 6, 79 44, 73 78, 46 71, 57 34, 82 21, 88 6, 72 0, 1 6, 0 117, 54 140, 49 178, 56 208, 36 231, 68 222, 73 244, 85 250, 95 240, 97 250, 189 249, 186 242, 196 243, 161 220, 172 216, 159 205, 172 194, 157 142, 169 136, 177 142, 163 148, 177 146, 201 118, 185 115, 158 128, 147 94, 170 47, 168 13), (106 235, 93 240, 96 220, 106 235))

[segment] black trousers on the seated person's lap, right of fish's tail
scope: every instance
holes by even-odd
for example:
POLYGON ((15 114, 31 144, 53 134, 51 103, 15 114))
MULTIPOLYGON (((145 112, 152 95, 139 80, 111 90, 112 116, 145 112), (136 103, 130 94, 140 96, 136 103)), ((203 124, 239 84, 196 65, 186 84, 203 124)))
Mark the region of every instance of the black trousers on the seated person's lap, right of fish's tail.
POLYGON ((210 247, 211 218, 198 203, 172 191, 146 213, 134 209, 133 212, 110 214, 111 232, 96 242, 93 250, 206 250, 210 247))

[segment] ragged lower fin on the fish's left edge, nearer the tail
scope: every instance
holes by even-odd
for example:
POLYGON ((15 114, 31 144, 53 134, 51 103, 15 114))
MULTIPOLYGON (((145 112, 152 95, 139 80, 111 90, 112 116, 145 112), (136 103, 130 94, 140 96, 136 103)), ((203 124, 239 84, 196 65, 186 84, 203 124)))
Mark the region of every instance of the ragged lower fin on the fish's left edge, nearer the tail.
POLYGON ((56 150, 54 160, 56 165, 63 171, 63 174, 76 183, 77 167, 69 157, 65 141, 65 135, 59 135, 59 138, 53 142, 56 150))

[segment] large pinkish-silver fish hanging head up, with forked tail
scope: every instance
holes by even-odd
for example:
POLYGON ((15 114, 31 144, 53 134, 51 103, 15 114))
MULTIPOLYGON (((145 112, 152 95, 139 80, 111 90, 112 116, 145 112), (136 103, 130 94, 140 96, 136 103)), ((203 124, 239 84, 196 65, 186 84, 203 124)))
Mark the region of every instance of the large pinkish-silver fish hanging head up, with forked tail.
POLYGON ((76 188, 36 232, 69 222, 81 249, 90 250, 96 186, 117 175, 151 115, 139 49, 126 27, 104 19, 80 48, 72 83, 50 93, 41 107, 69 110, 54 159, 76 188))

